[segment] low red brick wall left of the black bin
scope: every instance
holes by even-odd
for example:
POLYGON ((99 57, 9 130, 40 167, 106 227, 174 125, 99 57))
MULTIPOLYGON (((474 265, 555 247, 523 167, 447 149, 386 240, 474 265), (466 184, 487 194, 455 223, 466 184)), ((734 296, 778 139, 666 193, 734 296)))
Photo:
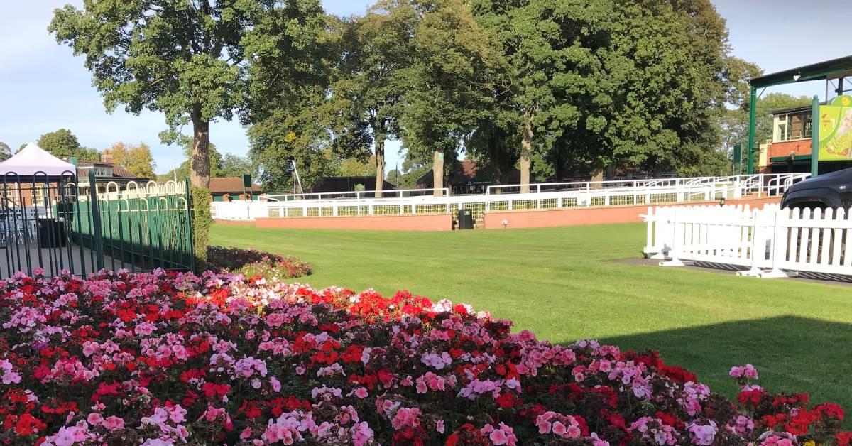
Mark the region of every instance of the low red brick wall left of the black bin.
POLYGON ((448 231, 450 215, 374 215, 361 217, 258 218, 256 228, 373 229, 400 231, 448 231))

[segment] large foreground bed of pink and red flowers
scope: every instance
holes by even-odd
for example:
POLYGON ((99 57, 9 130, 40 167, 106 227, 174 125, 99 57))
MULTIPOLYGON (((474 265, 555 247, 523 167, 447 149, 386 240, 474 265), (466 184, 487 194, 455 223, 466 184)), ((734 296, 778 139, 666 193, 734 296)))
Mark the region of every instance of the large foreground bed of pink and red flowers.
POLYGON ((653 352, 468 305, 237 277, 3 282, 0 443, 849 444, 841 408, 751 366, 732 402, 653 352))

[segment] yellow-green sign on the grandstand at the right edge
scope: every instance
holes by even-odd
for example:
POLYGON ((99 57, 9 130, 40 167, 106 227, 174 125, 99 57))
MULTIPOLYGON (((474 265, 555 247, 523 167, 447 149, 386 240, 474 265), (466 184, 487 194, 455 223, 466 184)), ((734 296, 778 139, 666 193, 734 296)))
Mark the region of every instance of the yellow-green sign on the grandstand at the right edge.
POLYGON ((820 105, 820 161, 852 159, 852 96, 820 105))

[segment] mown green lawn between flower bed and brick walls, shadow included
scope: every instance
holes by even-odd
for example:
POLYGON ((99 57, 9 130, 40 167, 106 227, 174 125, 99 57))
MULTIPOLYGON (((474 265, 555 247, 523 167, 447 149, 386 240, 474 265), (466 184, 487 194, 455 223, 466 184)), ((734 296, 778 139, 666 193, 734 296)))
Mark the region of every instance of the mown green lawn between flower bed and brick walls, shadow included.
POLYGON ((733 395, 746 362, 774 391, 852 408, 852 287, 614 263, 637 258, 641 224, 558 229, 372 232, 216 225, 211 243, 292 254, 304 282, 407 288, 515 321, 554 343, 592 338, 659 350, 733 395))

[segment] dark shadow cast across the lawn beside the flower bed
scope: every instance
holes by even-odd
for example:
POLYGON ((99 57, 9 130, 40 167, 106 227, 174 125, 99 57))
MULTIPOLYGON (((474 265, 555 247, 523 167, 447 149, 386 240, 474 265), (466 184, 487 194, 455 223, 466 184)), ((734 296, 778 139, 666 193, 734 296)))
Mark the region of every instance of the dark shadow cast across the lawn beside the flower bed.
POLYGON ((658 350, 728 397, 738 391, 728 370, 751 363, 769 391, 806 391, 812 401, 852 409, 852 324, 779 316, 599 340, 658 350))

